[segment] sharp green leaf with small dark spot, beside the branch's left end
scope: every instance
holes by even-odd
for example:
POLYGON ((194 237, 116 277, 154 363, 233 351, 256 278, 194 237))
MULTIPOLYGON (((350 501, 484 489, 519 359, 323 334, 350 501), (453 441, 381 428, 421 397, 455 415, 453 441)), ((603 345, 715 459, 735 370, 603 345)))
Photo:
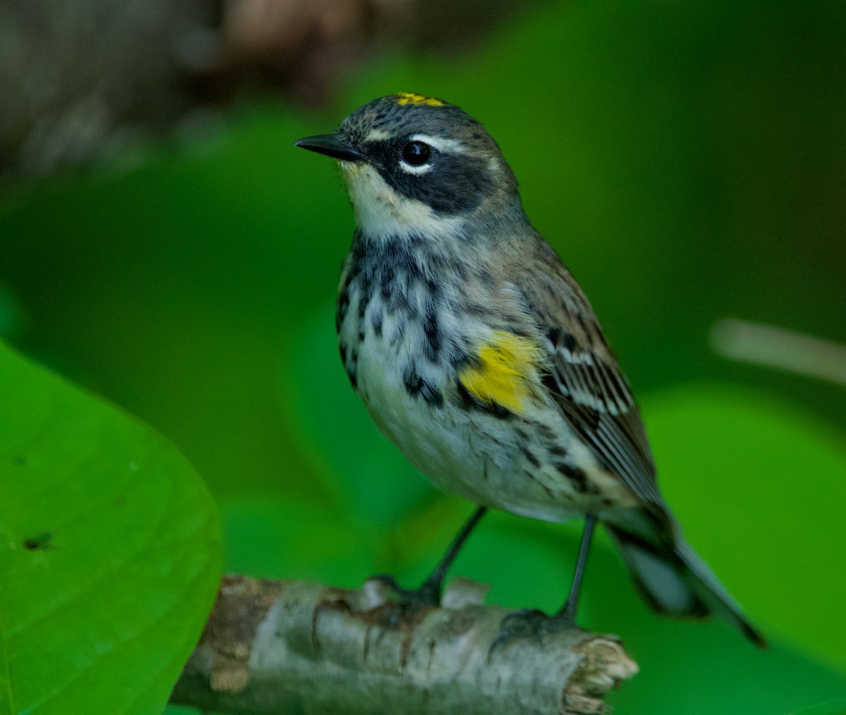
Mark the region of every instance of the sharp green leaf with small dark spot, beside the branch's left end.
POLYGON ((216 592, 165 439, 0 346, 0 713, 161 711, 216 592))

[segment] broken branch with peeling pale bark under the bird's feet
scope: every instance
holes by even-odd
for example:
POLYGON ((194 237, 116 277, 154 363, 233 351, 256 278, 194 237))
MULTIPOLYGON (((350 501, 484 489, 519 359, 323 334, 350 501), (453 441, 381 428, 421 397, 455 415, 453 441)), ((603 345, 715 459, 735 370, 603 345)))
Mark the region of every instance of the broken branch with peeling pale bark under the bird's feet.
POLYGON ((398 619, 378 581, 345 591, 226 576, 171 702, 226 713, 608 712, 637 672, 616 636, 581 630, 491 650, 507 609, 456 579, 441 608, 398 619))

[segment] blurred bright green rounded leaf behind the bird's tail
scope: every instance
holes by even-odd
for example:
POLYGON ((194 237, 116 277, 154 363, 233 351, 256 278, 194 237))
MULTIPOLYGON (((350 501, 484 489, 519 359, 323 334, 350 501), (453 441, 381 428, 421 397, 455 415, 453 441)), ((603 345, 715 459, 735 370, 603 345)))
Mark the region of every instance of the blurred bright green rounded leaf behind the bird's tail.
POLYGON ((673 390, 644 414, 667 502, 772 638, 846 670, 846 445, 772 396, 673 390))

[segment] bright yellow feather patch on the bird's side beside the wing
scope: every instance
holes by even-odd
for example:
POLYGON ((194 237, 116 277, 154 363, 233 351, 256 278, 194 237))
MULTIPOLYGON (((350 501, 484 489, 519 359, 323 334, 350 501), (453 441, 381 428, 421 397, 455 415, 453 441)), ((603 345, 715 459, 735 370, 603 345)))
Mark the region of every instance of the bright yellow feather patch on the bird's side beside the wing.
POLYGON ((459 373, 459 381, 476 400, 523 412, 533 391, 532 379, 543 363, 537 343, 504 330, 479 348, 478 364, 459 373))

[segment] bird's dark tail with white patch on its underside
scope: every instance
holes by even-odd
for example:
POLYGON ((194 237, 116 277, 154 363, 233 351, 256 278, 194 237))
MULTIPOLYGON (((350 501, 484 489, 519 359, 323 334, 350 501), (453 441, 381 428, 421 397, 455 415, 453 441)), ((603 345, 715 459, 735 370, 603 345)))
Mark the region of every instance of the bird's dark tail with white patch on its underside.
MULTIPOLYGON (((757 647, 766 648, 761 631, 750 623, 713 571, 678 532, 643 538, 607 524, 635 586, 658 614, 704 618, 715 613, 732 623, 757 647)), ((662 529, 662 532, 665 530, 662 529)))

